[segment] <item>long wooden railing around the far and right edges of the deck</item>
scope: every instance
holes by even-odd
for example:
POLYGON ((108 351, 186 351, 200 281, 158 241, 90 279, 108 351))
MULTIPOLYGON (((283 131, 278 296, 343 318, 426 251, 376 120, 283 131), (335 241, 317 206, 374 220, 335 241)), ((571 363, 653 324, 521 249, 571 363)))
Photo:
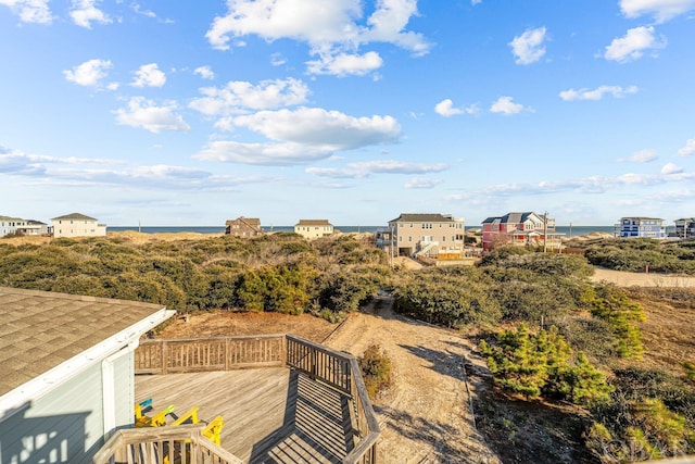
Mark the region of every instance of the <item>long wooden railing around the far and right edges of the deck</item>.
MULTIPOLYGON (((288 366, 304 372, 314 381, 348 396, 354 409, 352 419, 356 442, 343 463, 376 463, 379 424, 359 365, 352 354, 285 334, 143 340, 135 353, 136 374, 271 366, 288 366)), ((94 461, 96 464, 106 462, 94 461)), ((219 461, 219 464, 223 463, 225 461, 219 461)))

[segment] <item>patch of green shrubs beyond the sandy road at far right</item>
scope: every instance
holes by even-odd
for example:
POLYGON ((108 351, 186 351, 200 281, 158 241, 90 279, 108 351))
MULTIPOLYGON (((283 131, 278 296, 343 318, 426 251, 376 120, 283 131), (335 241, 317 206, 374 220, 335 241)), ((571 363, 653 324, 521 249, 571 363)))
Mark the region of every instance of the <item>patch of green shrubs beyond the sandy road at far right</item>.
POLYGON ((695 241, 612 239, 585 251, 591 264, 616 271, 695 274, 695 241))

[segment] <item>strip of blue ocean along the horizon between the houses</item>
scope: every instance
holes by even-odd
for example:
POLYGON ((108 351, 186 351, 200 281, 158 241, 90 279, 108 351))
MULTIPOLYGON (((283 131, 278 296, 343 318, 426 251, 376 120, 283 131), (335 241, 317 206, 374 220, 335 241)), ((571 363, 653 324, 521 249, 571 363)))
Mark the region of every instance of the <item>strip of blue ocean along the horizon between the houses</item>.
MULTIPOLYGON (((481 226, 467 226, 466 229, 479 229, 481 226)), ((294 231, 294 226, 263 226, 265 231, 294 231)), ((388 226, 336 226, 336 229, 349 233, 375 233, 377 230, 388 230, 388 226)), ((144 234, 164 234, 164 233, 198 233, 198 234, 224 234, 224 226, 113 226, 109 227, 110 231, 136 230, 144 234)), ((608 233, 612 234, 615 227, 610 226, 557 226, 555 231, 565 234, 566 237, 577 237, 591 233, 608 233)))

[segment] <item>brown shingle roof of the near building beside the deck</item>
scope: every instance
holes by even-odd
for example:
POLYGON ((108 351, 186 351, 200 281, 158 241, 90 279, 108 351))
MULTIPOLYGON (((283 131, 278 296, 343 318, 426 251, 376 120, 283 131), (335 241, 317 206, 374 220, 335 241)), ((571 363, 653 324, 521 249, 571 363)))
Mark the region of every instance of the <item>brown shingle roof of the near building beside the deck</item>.
POLYGON ((162 309, 0 287, 0 396, 162 309))

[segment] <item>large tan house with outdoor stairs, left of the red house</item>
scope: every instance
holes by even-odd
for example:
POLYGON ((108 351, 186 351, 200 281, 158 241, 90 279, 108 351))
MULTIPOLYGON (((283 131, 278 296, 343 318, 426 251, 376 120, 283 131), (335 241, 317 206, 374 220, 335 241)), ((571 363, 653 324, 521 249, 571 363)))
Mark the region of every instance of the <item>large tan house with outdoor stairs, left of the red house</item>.
POLYGON ((460 258, 464 254, 465 223, 450 214, 403 213, 389 221, 395 254, 429 258, 460 258))

